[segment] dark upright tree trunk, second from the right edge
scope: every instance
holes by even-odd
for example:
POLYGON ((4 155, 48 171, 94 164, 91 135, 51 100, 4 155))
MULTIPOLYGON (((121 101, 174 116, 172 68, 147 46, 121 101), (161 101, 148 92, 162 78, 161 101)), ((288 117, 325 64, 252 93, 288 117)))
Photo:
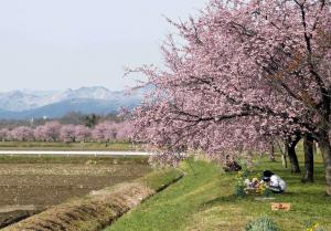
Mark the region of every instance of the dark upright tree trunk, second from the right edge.
POLYGON ((305 174, 303 182, 313 182, 313 138, 307 134, 303 139, 305 149, 305 174))

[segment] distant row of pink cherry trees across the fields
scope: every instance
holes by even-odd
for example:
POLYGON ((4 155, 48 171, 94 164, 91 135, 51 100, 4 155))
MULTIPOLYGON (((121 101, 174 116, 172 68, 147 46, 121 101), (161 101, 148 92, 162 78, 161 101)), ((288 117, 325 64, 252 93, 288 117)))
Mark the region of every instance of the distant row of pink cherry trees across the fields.
POLYGON ((45 125, 31 128, 19 126, 13 129, 0 129, 0 139, 18 141, 111 141, 129 140, 131 125, 127 122, 103 122, 94 128, 84 125, 62 125, 58 122, 49 122, 45 125))

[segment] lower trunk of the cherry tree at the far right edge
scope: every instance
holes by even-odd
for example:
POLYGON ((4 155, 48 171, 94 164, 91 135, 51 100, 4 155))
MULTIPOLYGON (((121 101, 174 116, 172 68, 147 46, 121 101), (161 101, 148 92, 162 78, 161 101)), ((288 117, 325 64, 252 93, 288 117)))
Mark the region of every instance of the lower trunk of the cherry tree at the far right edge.
POLYGON ((319 148, 323 155, 325 167, 327 193, 331 196, 331 146, 328 132, 319 137, 319 148))

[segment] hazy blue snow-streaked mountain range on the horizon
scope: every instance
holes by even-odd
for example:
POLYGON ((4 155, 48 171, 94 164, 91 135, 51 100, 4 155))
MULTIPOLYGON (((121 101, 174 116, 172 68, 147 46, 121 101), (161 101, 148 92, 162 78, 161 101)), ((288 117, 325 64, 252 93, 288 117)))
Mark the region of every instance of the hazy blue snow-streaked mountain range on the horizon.
POLYGON ((81 87, 65 91, 18 90, 0 93, 0 118, 55 118, 71 112, 83 114, 116 113, 132 108, 142 101, 145 90, 113 92, 106 87, 81 87))

